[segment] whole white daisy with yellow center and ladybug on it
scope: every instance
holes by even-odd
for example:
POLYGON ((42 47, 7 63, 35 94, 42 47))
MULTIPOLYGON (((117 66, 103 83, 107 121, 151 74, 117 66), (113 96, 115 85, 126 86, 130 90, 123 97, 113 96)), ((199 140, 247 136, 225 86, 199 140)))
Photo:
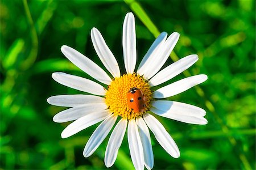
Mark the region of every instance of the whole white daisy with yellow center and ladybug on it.
POLYGON ((92 28, 93 46, 111 76, 88 57, 69 46, 62 46, 61 52, 82 71, 98 82, 108 85, 108 89, 92 80, 57 72, 52 74, 56 82, 87 94, 57 95, 49 97, 47 101, 52 105, 71 107, 53 117, 55 122, 73 121, 61 133, 62 138, 68 138, 102 121, 85 145, 85 157, 92 155, 100 146, 120 116, 121 119, 115 125, 106 147, 106 167, 114 164, 127 129, 129 150, 135 169, 144 169, 144 166, 152 169, 154 159, 149 129, 172 157, 179 158, 180 152, 170 134, 151 113, 189 124, 207 124, 203 109, 177 101, 159 99, 180 94, 203 83, 207 80, 207 75, 190 76, 152 91, 151 87, 158 86, 188 69, 198 60, 198 56, 184 57, 159 71, 179 39, 177 32, 168 38, 167 33, 162 32, 150 46, 135 72, 137 54, 134 20, 134 15, 129 12, 123 22, 122 45, 126 74, 121 75, 117 60, 101 33, 97 28, 92 28), (135 98, 138 95, 138 99, 135 98), (137 111, 133 107, 140 110, 137 111))

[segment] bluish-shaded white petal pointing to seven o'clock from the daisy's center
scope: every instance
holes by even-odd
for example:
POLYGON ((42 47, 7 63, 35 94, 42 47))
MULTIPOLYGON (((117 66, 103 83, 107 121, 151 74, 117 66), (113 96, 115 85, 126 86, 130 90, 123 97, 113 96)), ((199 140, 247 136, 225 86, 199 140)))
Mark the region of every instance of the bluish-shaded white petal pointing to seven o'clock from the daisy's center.
POLYGON ((116 120, 117 115, 112 114, 103 122, 101 122, 100 125, 98 125, 97 129, 93 132, 85 145, 83 154, 86 158, 92 155, 98 146, 101 145, 102 141, 106 138, 106 136, 109 134, 109 131, 114 126, 116 120))

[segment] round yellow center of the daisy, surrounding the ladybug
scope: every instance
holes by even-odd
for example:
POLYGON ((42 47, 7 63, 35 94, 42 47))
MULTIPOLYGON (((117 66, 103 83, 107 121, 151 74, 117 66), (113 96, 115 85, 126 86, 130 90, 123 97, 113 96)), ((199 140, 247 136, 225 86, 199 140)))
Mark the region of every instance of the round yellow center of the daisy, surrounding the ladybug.
POLYGON ((149 110, 151 97, 150 86, 147 81, 138 74, 123 74, 119 78, 115 78, 108 87, 106 92, 106 104, 109 106, 110 111, 128 120, 135 119, 149 110), (146 97, 145 109, 141 113, 135 113, 127 105, 127 93, 131 88, 138 88, 146 97))

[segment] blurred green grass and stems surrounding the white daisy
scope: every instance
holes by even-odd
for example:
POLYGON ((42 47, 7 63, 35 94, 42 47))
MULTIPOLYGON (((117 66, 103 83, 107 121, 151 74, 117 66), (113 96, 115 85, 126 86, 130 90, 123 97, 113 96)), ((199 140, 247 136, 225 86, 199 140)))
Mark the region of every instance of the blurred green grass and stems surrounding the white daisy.
MULTIPOLYGON (((102 66, 90 40, 93 27, 101 31, 125 73, 122 24, 130 11, 135 15, 138 61, 159 32, 177 31, 180 39, 166 65, 189 54, 198 54, 199 61, 170 82, 208 75, 207 82, 169 99, 204 108, 208 125, 157 117, 181 156, 172 158, 151 134, 154 169, 255 169, 254 0, 1 0, 1 169, 106 169, 109 135, 84 158, 82 150, 98 124, 61 139, 69 123, 56 124, 52 117, 65 108, 46 99, 81 94, 56 83, 51 78, 55 71, 90 78, 64 57, 61 45, 102 66)), ((125 135, 110 169, 132 168, 125 135)))

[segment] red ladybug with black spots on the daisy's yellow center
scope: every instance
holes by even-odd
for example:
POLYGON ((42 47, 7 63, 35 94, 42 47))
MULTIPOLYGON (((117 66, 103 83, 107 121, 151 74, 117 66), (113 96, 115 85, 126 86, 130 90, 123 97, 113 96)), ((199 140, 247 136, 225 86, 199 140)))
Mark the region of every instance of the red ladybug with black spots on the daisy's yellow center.
POLYGON ((143 112, 145 109, 146 97, 138 88, 131 88, 127 93, 127 105, 135 113, 143 112))

